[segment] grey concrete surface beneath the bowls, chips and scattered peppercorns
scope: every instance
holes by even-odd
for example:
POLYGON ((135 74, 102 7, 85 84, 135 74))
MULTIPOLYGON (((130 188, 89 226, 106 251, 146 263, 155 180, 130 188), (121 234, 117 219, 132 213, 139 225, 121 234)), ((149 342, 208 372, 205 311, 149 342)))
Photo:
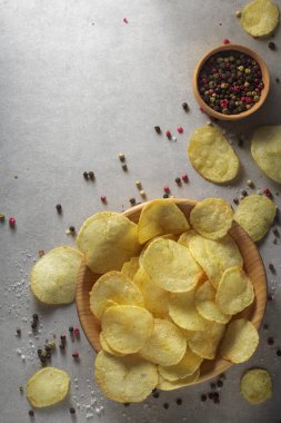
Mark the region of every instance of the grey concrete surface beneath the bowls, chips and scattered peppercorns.
MULTIPOLYGON (((0 0, 0 422, 32 421, 30 405, 20 394, 40 364, 38 347, 53 334, 68 333, 79 326, 76 306, 48 308, 29 293, 29 272, 38 250, 58 245, 74 245, 66 235, 69 225, 77 228, 92 213, 129 207, 138 195, 140 179, 148 199, 162 196, 164 185, 172 195, 187 198, 221 196, 229 200, 247 188, 251 178, 257 188, 280 186, 270 181, 254 165, 249 136, 261 124, 280 125, 281 37, 277 31, 277 51, 267 41, 248 36, 234 12, 242 0, 0 0), (129 23, 123 22, 123 18, 129 23), (191 89, 193 69, 200 57, 223 38, 258 51, 272 76, 267 105, 252 118, 224 124, 235 135, 244 134, 243 148, 233 147, 242 163, 235 185, 215 186, 203 180, 187 158, 187 142, 192 130, 207 121, 199 111, 191 89), (185 114, 181 102, 187 100, 185 114), (158 136, 160 125, 177 135, 177 142, 158 136), (118 154, 127 157, 128 173, 118 154), (96 173, 96 181, 86 181, 84 170, 96 173), (188 173, 190 183, 177 187, 174 178, 188 173), (100 196, 108 197, 103 206, 100 196), (56 204, 63 213, 58 216, 56 204), (11 230, 8 218, 16 216, 11 230), (32 313, 40 315, 40 333, 30 329, 32 313), (16 329, 22 335, 17 337, 16 329), (24 356, 24 357, 22 357, 24 356)), ((279 7, 281 1, 277 0, 279 7)), ((232 135, 233 135, 232 134, 232 135)), ((274 195, 280 206, 280 197, 274 195)), ((273 244, 272 232, 260 252, 268 274, 269 292, 260 345, 253 357, 227 372, 221 403, 200 402, 209 383, 178 392, 161 393, 143 404, 124 407, 108 401, 93 378, 94 353, 81 334, 64 355, 57 352, 52 364, 71 375, 71 392, 62 404, 36 411, 37 423, 278 423, 281 421, 281 286, 280 242, 273 244), (267 345, 268 336, 275 344, 267 345), (71 353, 78 350, 80 363, 71 353), (257 406, 239 393, 239 380, 245 368, 263 366, 273 380, 272 397, 257 406), (175 399, 182 399, 182 405, 175 399), (162 404, 168 402, 169 410, 162 404), (77 409, 74 417, 69 406, 77 409)))

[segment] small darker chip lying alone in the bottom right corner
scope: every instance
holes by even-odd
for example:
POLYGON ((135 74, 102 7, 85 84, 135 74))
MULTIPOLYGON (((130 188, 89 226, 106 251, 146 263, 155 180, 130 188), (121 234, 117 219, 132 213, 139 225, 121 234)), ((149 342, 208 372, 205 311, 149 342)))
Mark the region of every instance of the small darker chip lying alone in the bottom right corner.
POLYGON ((272 395, 272 382, 269 372, 263 368, 247 371, 240 381, 240 392, 251 404, 260 404, 272 395))

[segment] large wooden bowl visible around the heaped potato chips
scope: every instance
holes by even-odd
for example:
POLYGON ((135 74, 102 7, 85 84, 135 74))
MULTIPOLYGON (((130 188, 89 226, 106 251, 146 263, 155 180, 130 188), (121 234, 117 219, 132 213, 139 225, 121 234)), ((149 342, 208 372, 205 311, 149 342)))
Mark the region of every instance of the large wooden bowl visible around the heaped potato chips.
MULTIPOLYGON (((189 217, 190 212, 197 201, 184 198, 174 198, 174 203, 184 213, 184 215, 189 217)), ((143 205, 144 204, 141 204, 129 208, 123 214, 130 220, 138 223, 143 205)), ((244 269, 251 278, 255 291, 254 303, 241 312, 239 316, 251 321, 258 329, 261 325, 267 303, 267 276, 263 263, 254 243, 235 222, 233 222, 233 225, 230 229, 230 235, 233 237, 240 249, 240 253, 244 260, 244 269)), ((101 350, 99 341, 101 327, 100 322, 90 311, 89 292, 99 277, 100 275, 93 274, 90 268, 87 267, 87 265, 83 263, 78 274, 76 288, 76 304, 79 319, 89 343, 96 352, 99 352, 101 350)), ((231 365, 232 363, 222 358, 220 354, 217 355, 215 360, 204 360, 201 365, 200 378, 195 383, 200 383, 214 377, 224 372, 231 365)))

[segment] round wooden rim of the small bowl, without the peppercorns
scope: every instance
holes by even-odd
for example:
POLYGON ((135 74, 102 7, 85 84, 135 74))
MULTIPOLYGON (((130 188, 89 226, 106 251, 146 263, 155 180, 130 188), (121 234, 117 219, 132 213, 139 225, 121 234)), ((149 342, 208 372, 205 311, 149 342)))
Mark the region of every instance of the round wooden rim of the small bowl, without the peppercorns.
POLYGON ((263 61, 263 59, 257 52, 254 52, 253 50, 249 49, 248 47, 240 46, 240 45, 231 45, 230 43, 230 45, 225 45, 225 46, 215 47, 214 49, 210 50, 199 61, 199 63, 198 63, 198 66, 197 66, 197 68, 194 70, 194 73, 193 73, 192 86, 193 86, 193 92, 194 92, 195 99, 197 99, 197 101, 199 102, 200 107, 203 109, 203 111, 207 115, 212 116, 213 118, 217 118, 217 119, 220 119, 220 120, 239 120, 239 119, 247 118, 248 116, 254 114, 254 111, 257 111, 264 104, 265 98, 268 97, 268 94, 269 94, 270 76, 269 76, 269 71, 268 71, 265 62, 263 61), (255 102, 254 106, 250 110, 242 111, 239 115, 223 115, 223 114, 220 114, 219 111, 214 111, 211 107, 209 107, 204 102, 204 100, 202 99, 202 97, 201 97, 201 95, 199 92, 199 89, 198 89, 198 78, 199 78, 200 70, 201 70, 202 66, 204 65, 204 62, 211 56, 213 56, 213 55, 215 55, 215 53, 218 53, 220 51, 229 51, 229 50, 241 51, 242 53, 245 53, 245 55, 252 57, 259 63, 259 66, 260 66, 260 69, 261 69, 261 72, 262 72, 262 80, 263 80, 263 83, 264 83, 264 88, 261 91, 260 100, 258 102, 255 102))

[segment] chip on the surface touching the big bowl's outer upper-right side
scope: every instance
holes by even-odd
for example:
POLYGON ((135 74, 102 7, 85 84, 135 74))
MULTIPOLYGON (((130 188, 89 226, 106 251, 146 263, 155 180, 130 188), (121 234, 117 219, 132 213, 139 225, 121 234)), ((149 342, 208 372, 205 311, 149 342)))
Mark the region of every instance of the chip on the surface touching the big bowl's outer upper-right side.
POLYGON ((277 213, 277 206, 263 195, 250 195, 239 204, 234 220, 258 242, 269 232, 277 213))

